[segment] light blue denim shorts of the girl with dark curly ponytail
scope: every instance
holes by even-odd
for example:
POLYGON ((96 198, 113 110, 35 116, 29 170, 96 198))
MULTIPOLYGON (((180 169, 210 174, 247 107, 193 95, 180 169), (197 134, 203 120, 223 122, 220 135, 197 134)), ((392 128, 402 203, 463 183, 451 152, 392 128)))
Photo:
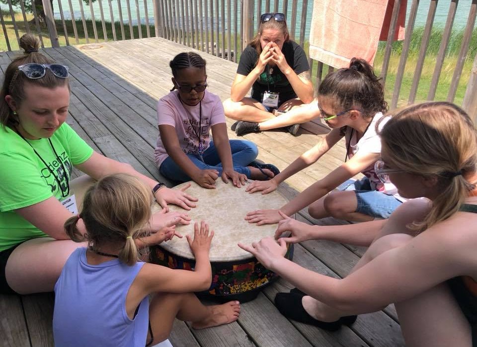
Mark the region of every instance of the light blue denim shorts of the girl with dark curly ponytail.
POLYGON ((353 190, 358 200, 356 211, 377 218, 389 218, 394 210, 402 204, 393 195, 371 189, 368 177, 360 180, 348 179, 337 188, 341 191, 353 190))

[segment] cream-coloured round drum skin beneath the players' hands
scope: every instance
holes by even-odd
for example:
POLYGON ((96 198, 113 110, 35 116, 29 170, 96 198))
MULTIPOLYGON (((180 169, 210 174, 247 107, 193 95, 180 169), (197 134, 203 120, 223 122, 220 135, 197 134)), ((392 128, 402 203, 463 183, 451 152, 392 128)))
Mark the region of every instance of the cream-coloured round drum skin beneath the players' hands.
MULTIPOLYGON (((260 192, 249 194, 245 191, 247 184, 237 188, 232 184, 224 183, 219 177, 215 189, 202 188, 195 182, 187 189, 191 196, 199 198, 197 207, 185 211, 175 205, 168 205, 170 211, 186 212, 192 218, 187 226, 178 225, 176 231, 182 234, 182 238, 174 237, 172 240, 162 242, 160 246, 178 256, 194 259, 190 251, 185 235, 194 235, 194 223, 206 221, 210 229, 215 232, 210 249, 211 262, 227 262, 243 260, 252 255, 241 249, 237 243, 251 244, 266 236, 273 236, 278 224, 266 224, 257 226, 255 223, 245 221, 245 215, 254 210, 279 209, 288 200, 276 190, 262 195, 260 192)), ((174 187, 180 189, 188 183, 182 183, 174 187)), ((156 204, 153 212, 159 211, 156 204)))

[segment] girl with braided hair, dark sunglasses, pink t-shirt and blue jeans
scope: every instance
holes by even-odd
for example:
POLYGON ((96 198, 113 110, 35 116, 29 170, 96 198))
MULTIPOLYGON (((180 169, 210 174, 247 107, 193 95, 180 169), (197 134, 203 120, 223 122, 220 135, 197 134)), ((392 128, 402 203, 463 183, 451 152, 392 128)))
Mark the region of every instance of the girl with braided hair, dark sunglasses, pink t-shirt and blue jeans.
POLYGON ((253 142, 229 140, 222 102, 206 90, 205 64, 193 52, 180 53, 169 64, 174 87, 158 102, 159 172, 174 181, 192 179, 205 188, 215 188, 219 176, 240 187, 247 178, 278 174, 275 166, 254 162, 258 150, 253 142))

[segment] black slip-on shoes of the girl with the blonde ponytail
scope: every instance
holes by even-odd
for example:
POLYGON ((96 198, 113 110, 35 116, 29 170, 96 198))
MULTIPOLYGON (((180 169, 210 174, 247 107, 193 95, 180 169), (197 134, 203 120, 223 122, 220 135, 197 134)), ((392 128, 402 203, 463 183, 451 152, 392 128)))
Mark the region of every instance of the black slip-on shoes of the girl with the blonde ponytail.
POLYGON ((336 331, 341 328, 342 325, 350 325, 356 321, 357 315, 345 316, 334 322, 323 322, 313 318, 303 308, 302 298, 304 295, 300 293, 277 293, 275 296, 275 305, 282 315, 287 318, 293 319, 297 322, 314 325, 318 328, 336 331))

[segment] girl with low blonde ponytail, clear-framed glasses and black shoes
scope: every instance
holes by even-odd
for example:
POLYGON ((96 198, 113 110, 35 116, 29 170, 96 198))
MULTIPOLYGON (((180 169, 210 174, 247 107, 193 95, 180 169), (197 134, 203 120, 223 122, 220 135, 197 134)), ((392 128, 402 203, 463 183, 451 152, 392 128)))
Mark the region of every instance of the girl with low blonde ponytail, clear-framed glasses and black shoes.
POLYGON ((241 246, 297 287, 275 297, 288 318, 337 330, 394 303, 405 346, 477 346, 476 128, 458 106, 427 102, 397 111, 379 133, 376 173, 412 199, 388 220, 318 227, 287 218, 275 236, 291 236, 280 244, 241 246), (283 258, 286 242, 309 239, 369 248, 336 279, 283 258))

